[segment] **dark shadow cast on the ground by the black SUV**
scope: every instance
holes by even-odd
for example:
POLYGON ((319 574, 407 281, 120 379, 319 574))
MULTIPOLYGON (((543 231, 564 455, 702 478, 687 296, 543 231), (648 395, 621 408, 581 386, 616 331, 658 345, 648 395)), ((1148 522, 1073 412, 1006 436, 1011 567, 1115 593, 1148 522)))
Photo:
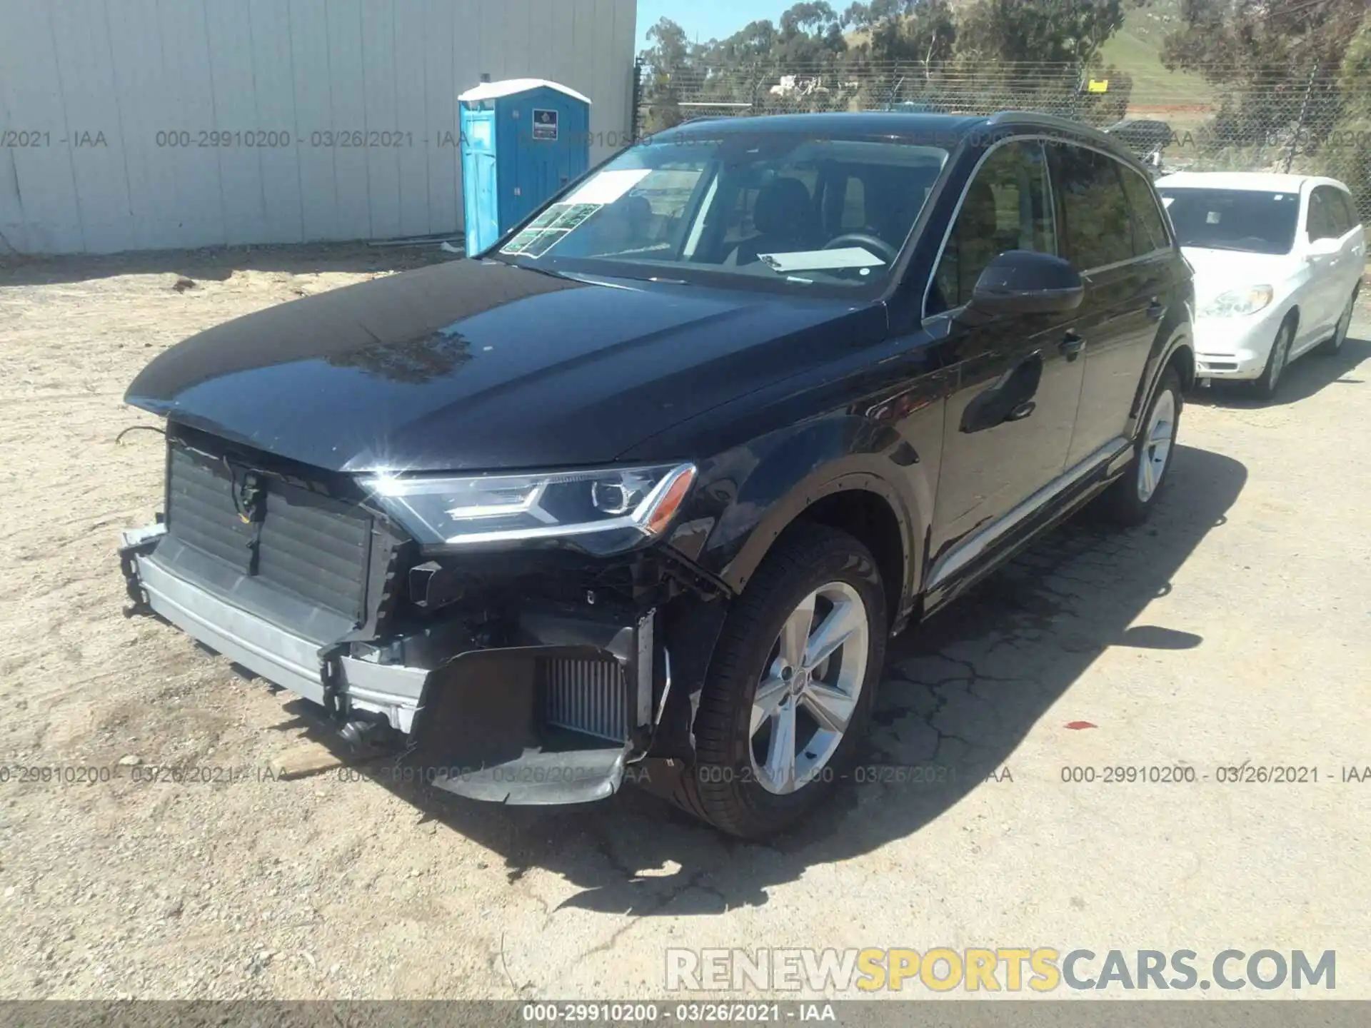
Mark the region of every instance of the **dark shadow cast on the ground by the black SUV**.
MULTIPOLYGON (((860 770, 799 829, 723 836, 633 788, 577 807, 502 807, 388 783, 428 818, 500 854, 510 881, 540 868, 561 906, 636 917, 716 914, 773 885, 909 836, 987 781, 1108 647, 1191 648, 1196 626, 1134 625, 1246 481, 1230 458, 1179 447, 1152 521, 1115 532, 1087 510, 891 646, 860 770)), ((1061 721, 1071 721, 1064 711, 1061 721)), ((1061 728, 1061 731, 1065 731, 1061 728)))

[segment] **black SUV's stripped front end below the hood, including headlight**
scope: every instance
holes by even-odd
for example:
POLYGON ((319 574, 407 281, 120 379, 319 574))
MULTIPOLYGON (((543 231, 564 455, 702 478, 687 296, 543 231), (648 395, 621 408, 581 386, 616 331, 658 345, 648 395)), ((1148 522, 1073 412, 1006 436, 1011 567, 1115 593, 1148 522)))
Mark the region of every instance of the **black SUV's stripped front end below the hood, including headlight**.
POLYGON ((166 467, 165 514, 123 533, 130 611, 347 737, 402 733, 435 785, 509 803, 607 796, 648 754, 688 762, 673 661, 702 672, 728 589, 651 544, 694 465, 326 474, 171 422, 166 467))

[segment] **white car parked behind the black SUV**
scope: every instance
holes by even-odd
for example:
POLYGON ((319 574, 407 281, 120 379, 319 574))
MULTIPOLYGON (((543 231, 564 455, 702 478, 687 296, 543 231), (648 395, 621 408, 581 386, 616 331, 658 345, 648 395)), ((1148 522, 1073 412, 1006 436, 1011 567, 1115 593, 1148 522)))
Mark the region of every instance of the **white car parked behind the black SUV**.
POLYGON ((1179 173, 1157 181, 1196 271, 1196 376, 1275 395, 1286 365, 1346 339, 1366 232, 1333 178, 1179 173))

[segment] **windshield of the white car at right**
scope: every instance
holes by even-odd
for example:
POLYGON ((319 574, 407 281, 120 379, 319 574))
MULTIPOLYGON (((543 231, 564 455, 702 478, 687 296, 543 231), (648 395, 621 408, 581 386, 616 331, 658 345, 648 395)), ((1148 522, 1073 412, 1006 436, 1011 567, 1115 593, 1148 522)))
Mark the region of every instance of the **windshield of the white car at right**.
POLYGON ((1289 254, 1300 193, 1254 189, 1160 189, 1182 247, 1289 254))

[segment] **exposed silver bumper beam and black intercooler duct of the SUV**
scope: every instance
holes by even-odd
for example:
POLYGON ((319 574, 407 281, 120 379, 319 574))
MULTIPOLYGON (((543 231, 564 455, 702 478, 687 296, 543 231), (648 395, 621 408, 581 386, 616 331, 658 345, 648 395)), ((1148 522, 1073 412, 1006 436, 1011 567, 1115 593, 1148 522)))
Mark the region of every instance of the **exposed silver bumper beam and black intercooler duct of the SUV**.
MULTIPOLYGON (((425 780, 474 799, 611 795, 646 754, 670 691, 655 611, 531 609, 506 646, 430 629, 339 643, 351 625, 322 611, 302 611, 287 628, 217 595, 215 583, 186 572, 189 558, 160 524, 125 532, 119 555, 136 610, 340 718, 384 720, 407 736, 407 759, 425 780), (424 666, 406 662, 411 654, 424 666)), ((243 595, 244 583, 236 588, 243 595)))

